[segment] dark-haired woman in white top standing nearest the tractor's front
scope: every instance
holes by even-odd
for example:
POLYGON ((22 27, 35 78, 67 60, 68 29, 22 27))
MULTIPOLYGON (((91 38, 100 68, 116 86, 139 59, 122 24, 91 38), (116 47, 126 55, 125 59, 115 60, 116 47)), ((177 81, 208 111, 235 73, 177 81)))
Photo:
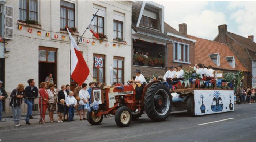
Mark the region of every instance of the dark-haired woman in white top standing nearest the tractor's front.
POLYGON ((86 90, 86 88, 87 88, 87 84, 83 83, 82 89, 79 91, 79 95, 78 95, 80 98, 79 105, 78 105, 80 120, 87 120, 86 111, 88 108, 86 108, 86 106, 88 106, 88 103, 89 103, 88 100, 90 99, 90 95, 86 90), (83 118, 82 118, 82 111, 83 111, 83 118))

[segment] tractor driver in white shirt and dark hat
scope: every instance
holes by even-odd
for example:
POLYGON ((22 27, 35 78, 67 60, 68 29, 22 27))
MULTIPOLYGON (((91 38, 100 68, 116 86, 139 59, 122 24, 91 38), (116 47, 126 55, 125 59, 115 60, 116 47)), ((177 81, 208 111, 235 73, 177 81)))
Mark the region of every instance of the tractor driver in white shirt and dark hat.
POLYGON ((134 83, 141 83, 140 87, 137 85, 136 88, 135 88, 135 90, 136 90, 136 100, 139 100, 139 104, 141 104, 141 96, 142 96, 142 93, 143 93, 143 88, 145 87, 145 84, 146 84, 146 79, 140 73, 140 70, 136 70, 135 73, 136 73, 135 80, 129 80, 129 81, 134 82, 134 83))

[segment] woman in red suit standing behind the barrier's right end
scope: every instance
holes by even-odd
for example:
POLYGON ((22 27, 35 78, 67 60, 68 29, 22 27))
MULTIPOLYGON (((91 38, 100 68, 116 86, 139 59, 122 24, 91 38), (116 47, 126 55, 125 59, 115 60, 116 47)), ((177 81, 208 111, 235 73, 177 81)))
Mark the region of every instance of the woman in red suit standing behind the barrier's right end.
POLYGON ((48 92, 46 90, 47 88, 47 83, 46 82, 42 82, 40 84, 40 99, 39 99, 39 107, 40 107, 40 116, 41 116, 41 124, 45 124, 45 113, 46 113, 46 109, 47 109, 47 103, 49 102, 48 100, 48 92), (42 121, 43 120, 43 121, 42 121))

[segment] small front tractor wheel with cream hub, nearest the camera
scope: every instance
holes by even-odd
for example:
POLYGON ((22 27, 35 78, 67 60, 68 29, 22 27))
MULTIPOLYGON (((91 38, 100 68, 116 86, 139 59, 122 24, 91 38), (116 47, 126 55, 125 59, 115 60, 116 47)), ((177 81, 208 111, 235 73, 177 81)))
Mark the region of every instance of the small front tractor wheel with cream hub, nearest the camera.
POLYGON ((115 121, 119 127, 129 126, 132 122, 132 111, 126 106, 119 107, 115 114, 115 121))

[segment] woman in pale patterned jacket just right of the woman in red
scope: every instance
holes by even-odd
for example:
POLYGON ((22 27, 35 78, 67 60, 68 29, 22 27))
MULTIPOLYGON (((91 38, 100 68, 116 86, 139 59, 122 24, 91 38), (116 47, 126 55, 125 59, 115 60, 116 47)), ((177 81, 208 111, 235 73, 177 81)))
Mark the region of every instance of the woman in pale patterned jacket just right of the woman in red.
POLYGON ((50 122, 54 122, 53 114, 54 114, 54 111, 56 110, 57 94, 56 94, 56 90, 54 89, 53 83, 49 83, 48 88, 49 89, 47 90, 47 92, 48 92, 49 102, 47 103, 47 110, 49 111, 50 122))

